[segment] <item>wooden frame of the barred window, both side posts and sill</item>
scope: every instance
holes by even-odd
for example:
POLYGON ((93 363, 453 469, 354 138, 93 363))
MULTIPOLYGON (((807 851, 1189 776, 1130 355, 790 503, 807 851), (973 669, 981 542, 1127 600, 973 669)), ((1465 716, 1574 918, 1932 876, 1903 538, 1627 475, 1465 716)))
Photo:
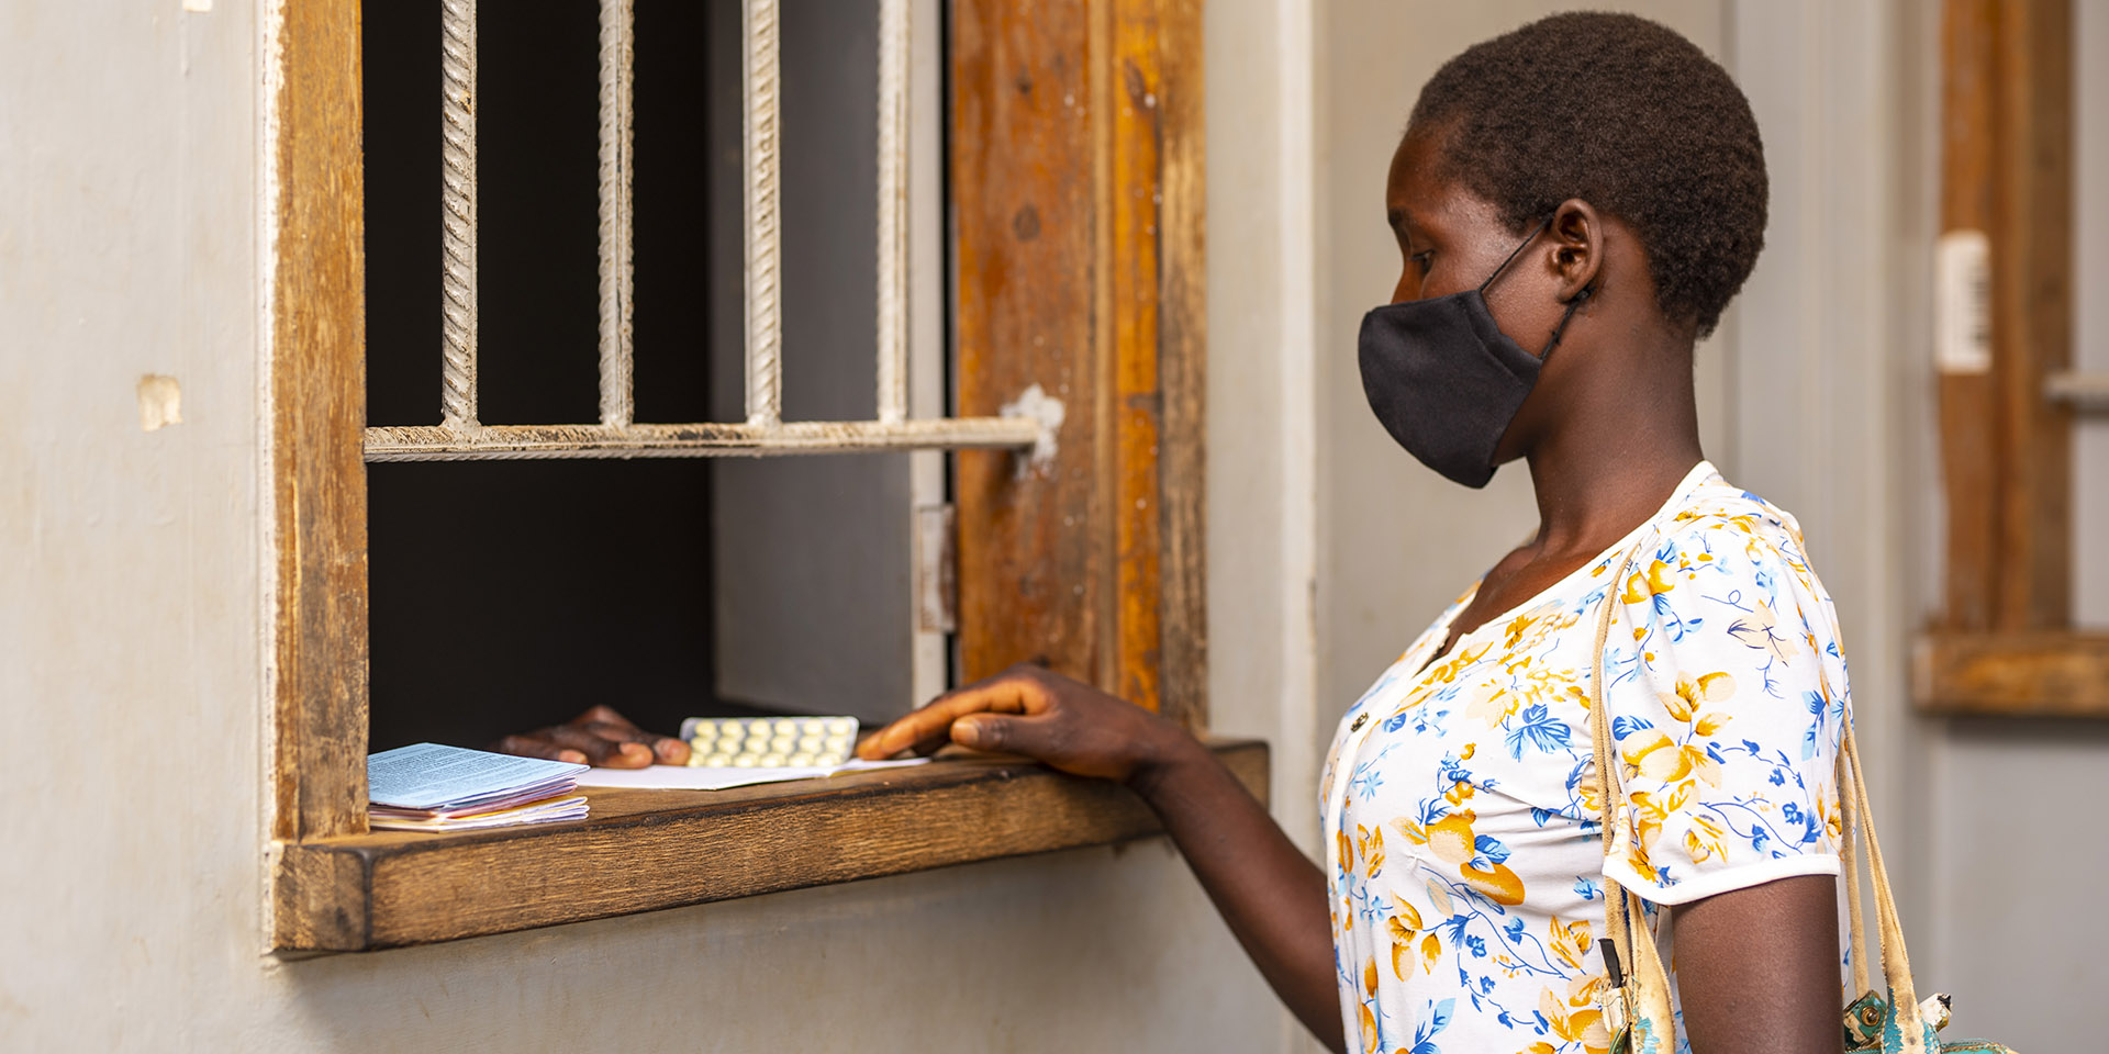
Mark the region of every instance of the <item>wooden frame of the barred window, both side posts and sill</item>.
MULTIPOLYGON (((422 944, 1156 833, 1126 790, 1017 759, 591 790, 576 824, 367 831, 359 17, 359 0, 266 11, 272 946, 422 944)), ((1046 464, 955 455, 966 675, 1040 660, 1196 731, 1200 27, 1200 0, 962 0, 947 57, 960 411, 1029 384, 1069 407, 1046 464)), ((1265 746, 1215 746, 1265 797, 1265 746)))

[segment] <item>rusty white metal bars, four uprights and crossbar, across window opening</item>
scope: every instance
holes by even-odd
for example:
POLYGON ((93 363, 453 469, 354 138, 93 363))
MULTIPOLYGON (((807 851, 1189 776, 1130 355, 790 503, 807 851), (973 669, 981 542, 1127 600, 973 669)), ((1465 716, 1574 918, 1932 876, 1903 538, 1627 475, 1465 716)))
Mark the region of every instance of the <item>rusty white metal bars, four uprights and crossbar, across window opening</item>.
POLYGON ((477 0, 441 4, 443 333, 441 424, 367 428, 367 462, 504 457, 713 457, 884 449, 1033 447, 1033 417, 907 415, 909 0, 879 4, 877 392, 869 422, 782 419, 778 209, 778 0, 744 0, 747 419, 633 422, 631 112, 633 0, 601 0, 599 424, 477 419, 477 0))

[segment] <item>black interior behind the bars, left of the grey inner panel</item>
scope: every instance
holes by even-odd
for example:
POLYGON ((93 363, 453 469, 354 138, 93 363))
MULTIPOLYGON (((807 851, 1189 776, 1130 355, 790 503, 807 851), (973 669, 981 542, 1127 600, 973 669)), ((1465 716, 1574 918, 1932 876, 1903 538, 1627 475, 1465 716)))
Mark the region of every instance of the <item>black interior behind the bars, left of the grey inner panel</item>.
MULTIPOLYGON (((637 419, 709 419, 704 4, 637 8, 637 419)), ((479 415, 595 422, 597 6, 500 11, 479 25, 479 415)), ((369 424, 439 422, 439 4, 365 8, 369 424)), ((744 710, 711 698, 709 481, 709 460, 369 466, 371 748, 599 702, 664 731, 744 710)))

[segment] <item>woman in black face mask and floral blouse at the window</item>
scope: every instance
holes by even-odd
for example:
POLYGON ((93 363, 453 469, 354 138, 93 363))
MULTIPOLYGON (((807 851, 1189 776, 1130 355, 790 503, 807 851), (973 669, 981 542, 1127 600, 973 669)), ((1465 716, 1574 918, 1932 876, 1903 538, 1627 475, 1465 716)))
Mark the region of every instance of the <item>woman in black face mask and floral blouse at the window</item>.
POLYGON ((1362 323, 1371 407, 1457 483, 1525 460, 1540 529, 1341 719, 1327 868, 1177 727, 1046 670, 860 753, 949 738, 1126 782, 1335 1050, 1603 1050, 1605 877, 1668 906, 1691 1050, 1839 1050, 1837 622, 1795 521, 1704 462, 1691 390, 1763 240, 1748 103, 1662 25, 1550 17, 1430 80, 1386 211, 1405 270, 1362 323), (1605 603, 1632 803, 1609 854, 1588 717, 1605 603))

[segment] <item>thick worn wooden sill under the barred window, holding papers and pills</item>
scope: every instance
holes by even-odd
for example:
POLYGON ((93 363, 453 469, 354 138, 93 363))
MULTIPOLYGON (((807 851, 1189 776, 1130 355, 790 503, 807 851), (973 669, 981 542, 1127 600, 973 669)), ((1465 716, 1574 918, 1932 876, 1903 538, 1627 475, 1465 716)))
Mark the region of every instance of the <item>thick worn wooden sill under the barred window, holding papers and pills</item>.
MULTIPOLYGON (((1268 746, 1211 748, 1268 795, 1268 746)), ((1122 786, 1023 759, 732 790, 588 790, 569 824, 278 845, 274 946, 371 951, 1156 835, 1122 786)))

